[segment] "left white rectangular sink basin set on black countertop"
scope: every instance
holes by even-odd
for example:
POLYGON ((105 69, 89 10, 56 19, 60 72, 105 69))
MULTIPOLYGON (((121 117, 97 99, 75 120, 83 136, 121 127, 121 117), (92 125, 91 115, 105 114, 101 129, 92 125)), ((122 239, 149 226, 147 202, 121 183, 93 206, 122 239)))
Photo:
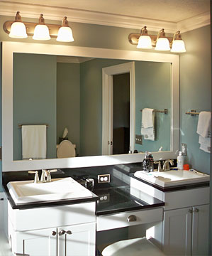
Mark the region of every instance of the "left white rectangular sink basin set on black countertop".
POLYGON ((16 204, 92 196, 91 191, 74 181, 73 178, 55 178, 48 183, 11 181, 6 186, 16 204))

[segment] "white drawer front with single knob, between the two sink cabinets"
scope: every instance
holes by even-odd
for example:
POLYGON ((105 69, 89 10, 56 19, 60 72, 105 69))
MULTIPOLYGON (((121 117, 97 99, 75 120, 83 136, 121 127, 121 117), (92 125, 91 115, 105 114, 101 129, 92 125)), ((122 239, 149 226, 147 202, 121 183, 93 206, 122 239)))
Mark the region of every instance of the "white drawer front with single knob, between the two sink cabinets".
POLYGON ((123 228, 131 225, 139 225, 161 221, 163 219, 163 208, 128 211, 111 215, 97 216, 96 230, 110 230, 113 228, 123 228), (128 217, 135 215, 136 220, 128 222, 128 217))

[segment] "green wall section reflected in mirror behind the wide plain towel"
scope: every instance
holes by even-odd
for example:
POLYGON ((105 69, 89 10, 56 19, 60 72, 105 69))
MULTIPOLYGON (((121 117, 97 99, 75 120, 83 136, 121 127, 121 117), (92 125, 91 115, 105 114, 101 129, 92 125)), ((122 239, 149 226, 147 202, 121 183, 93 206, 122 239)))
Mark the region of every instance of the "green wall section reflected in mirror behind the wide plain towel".
POLYGON ((48 124, 47 158, 56 157, 56 68, 55 56, 14 54, 14 160, 22 159, 21 129, 18 124, 48 124))

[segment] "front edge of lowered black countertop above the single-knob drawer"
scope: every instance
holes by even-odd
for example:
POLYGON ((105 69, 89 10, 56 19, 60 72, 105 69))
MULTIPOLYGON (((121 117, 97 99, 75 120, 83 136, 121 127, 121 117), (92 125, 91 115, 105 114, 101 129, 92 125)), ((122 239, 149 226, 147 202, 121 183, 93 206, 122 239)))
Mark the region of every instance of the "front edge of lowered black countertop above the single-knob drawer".
POLYGON ((135 207, 130 207, 130 208, 118 208, 115 210, 99 210, 96 211, 96 216, 101 216, 101 215, 108 215, 108 214, 113 214, 113 213, 123 213, 123 212, 128 212, 132 210, 144 210, 144 209, 149 209, 149 208, 157 208, 160 206, 164 206, 165 203, 154 203, 149 206, 135 206, 135 207))

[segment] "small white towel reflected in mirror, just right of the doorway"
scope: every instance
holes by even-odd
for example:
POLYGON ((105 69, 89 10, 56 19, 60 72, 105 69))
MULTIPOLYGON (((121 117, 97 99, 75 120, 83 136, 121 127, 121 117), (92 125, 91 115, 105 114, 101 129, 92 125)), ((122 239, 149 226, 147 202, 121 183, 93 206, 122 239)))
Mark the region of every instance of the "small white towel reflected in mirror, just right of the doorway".
POLYGON ((140 133, 144 139, 155 140, 155 112, 153 109, 143 109, 140 133))

